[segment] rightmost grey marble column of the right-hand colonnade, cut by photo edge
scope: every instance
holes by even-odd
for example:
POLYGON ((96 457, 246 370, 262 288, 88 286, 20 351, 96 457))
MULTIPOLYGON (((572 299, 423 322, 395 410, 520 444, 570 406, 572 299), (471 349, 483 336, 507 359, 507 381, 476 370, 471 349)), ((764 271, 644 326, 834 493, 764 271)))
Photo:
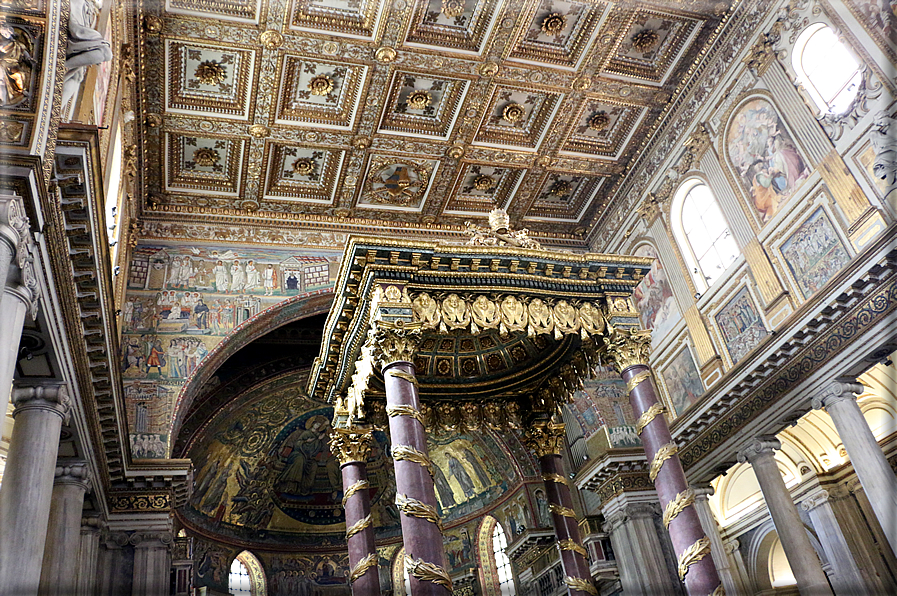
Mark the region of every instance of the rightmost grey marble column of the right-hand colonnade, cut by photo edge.
POLYGON ((813 399, 813 407, 825 408, 832 417, 891 550, 897 553, 897 476, 856 401, 854 394, 864 390, 855 379, 838 379, 813 399))

